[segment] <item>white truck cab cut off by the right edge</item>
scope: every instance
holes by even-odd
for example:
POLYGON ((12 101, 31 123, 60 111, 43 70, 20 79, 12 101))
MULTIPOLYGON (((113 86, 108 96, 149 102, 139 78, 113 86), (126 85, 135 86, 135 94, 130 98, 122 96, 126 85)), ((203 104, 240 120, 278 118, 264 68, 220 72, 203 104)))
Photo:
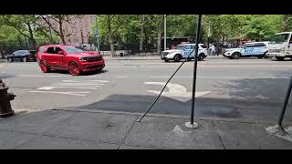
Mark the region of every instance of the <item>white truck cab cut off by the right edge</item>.
POLYGON ((285 57, 292 59, 292 32, 277 33, 273 36, 268 45, 266 56, 276 57, 277 60, 284 60, 285 57))

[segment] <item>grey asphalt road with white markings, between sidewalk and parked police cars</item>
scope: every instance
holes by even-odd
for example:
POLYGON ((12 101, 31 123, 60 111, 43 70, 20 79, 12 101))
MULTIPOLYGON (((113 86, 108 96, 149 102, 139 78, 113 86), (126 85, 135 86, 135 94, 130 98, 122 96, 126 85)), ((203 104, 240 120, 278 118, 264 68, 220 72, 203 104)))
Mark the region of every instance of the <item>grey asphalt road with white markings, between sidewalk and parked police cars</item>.
MULTIPOLYGON (((99 74, 73 77, 64 71, 42 73, 34 62, 0 62, 0 78, 17 96, 14 108, 144 112, 181 63, 164 63, 159 57, 107 58, 99 74)), ((290 60, 207 57, 198 62, 195 115, 276 120, 291 73, 290 60)), ((171 83, 151 112, 189 115, 193 62, 186 62, 171 83)))

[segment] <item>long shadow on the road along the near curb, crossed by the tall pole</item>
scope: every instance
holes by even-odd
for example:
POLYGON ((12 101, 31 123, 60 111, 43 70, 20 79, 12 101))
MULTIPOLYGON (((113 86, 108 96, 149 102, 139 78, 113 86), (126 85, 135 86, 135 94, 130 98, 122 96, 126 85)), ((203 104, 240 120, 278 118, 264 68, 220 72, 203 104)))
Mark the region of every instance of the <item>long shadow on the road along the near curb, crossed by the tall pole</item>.
MULTIPOLYGON (((74 107, 75 109, 87 110, 112 110, 124 112, 143 113, 154 102, 157 96, 141 96, 141 95, 123 95, 115 94, 104 98, 101 101, 91 103, 86 106, 74 107)), ((191 100, 181 102, 169 97, 160 97, 158 102, 151 108, 150 113, 154 114, 172 114, 189 116, 191 113, 191 100)), ((72 108, 70 108, 72 109, 72 108)), ((198 117, 211 118, 242 118, 240 110, 232 106, 226 106, 224 103, 207 104, 198 100, 195 104, 195 115, 198 117)))

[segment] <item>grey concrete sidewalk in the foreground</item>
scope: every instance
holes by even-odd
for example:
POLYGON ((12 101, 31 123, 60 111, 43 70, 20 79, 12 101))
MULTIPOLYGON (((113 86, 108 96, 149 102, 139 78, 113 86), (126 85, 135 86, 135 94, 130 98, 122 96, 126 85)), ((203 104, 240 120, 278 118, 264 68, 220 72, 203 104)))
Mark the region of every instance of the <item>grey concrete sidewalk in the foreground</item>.
POLYGON ((0 118, 0 149, 292 149, 266 132, 266 123, 82 110, 17 109, 0 118))

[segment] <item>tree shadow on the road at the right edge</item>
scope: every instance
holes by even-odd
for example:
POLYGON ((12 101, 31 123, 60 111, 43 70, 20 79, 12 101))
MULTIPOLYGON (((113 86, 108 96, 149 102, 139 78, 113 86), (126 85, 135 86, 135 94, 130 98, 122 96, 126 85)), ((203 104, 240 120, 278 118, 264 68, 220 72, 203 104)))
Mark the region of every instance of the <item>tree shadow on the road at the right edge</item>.
MULTIPOLYGON (((218 83, 213 87, 216 87, 220 94, 229 95, 228 101, 234 101, 236 106, 243 108, 248 115, 276 120, 283 106, 288 84, 288 78, 275 76, 231 80, 228 84, 218 83)), ((287 120, 292 120, 291 99, 290 97, 287 104, 287 120)))

